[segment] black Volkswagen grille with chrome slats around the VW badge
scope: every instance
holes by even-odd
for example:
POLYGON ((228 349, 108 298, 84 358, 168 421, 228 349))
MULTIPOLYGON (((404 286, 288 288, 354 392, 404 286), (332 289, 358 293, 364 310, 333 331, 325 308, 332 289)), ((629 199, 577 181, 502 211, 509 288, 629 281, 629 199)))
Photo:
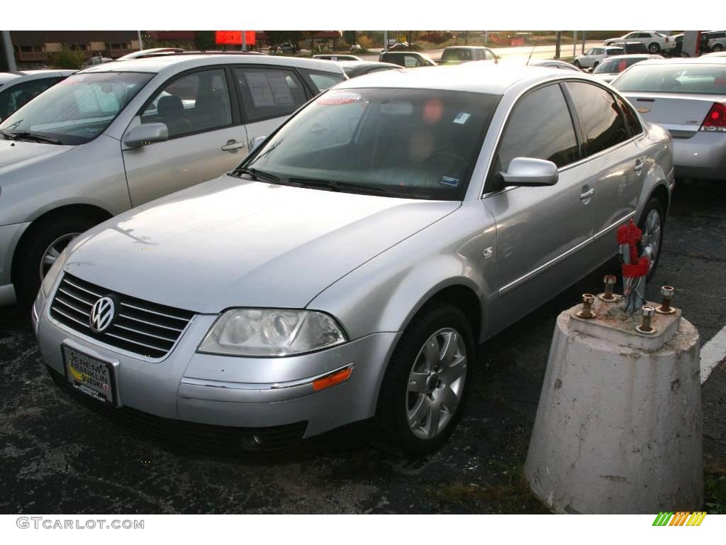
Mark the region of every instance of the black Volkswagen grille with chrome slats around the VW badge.
POLYGON ((55 292, 50 315, 73 331, 112 347, 159 359, 174 347, 194 313, 119 294, 66 273, 55 292), (91 328, 91 308, 104 296, 115 296, 121 304, 113 324, 98 333, 91 328))

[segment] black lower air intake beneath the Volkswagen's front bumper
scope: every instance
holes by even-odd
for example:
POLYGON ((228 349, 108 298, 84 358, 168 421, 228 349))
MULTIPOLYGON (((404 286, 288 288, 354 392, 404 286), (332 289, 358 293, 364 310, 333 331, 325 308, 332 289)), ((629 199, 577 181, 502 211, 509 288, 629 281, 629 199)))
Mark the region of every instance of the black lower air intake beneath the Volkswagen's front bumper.
POLYGON ((305 434, 307 422, 274 427, 242 428, 199 424, 144 413, 131 407, 113 408, 78 392, 65 376, 52 368, 48 372, 56 384, 84 405, 118 424, 160 440, 165 445, 219 453, 281 453, 296 445, 305 434))

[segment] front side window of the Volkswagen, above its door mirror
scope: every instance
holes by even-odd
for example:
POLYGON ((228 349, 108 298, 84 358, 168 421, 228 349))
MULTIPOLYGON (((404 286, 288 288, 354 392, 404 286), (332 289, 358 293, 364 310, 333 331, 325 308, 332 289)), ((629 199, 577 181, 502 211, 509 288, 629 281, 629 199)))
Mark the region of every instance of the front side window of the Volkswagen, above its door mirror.
POLYGON ((497 150, 495 171, 515 157, 533 157, 565 166, 577 161, 577 140, 562 89, 548 85, 526 94, 514 107, 497 150))

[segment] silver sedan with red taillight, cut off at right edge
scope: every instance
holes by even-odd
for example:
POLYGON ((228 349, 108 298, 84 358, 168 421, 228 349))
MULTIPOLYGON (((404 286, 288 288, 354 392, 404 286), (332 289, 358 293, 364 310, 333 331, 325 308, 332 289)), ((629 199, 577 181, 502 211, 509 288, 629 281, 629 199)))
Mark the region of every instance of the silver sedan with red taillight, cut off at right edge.
POLYGON ((672 134, 678 177, 726 179, 726 58, 647 60, 612 84, 672 134))

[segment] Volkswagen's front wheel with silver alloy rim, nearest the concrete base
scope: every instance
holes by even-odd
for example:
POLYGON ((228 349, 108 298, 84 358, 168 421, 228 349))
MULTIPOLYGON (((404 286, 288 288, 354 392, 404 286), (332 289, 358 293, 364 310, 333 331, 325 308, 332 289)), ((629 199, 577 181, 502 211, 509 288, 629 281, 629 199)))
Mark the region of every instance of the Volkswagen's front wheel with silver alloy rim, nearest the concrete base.
POLYGON ((378 398, 384 440, 423 456, 452 434, 471 382, 474 343, 464 313, 451 304, 425 307, 393 352, 378 398))

